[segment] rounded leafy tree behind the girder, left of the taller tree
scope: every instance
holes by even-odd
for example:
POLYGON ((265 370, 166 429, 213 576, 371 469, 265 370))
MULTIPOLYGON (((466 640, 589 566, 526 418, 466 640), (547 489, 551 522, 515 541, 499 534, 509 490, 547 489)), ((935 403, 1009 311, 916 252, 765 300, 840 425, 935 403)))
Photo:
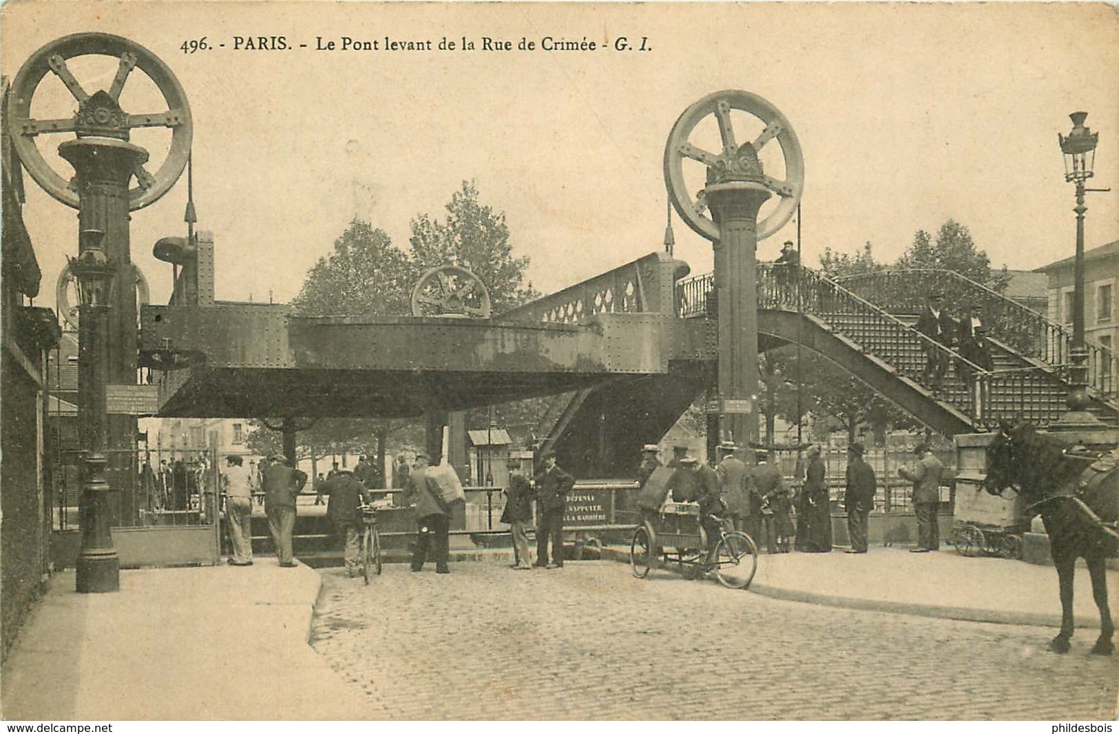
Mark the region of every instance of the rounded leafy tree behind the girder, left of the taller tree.
POLYGON ((335 251, 314 264, 292 301, 301 316, 408 313, 413 268, 392 239, 355 219, 335 240, 335 251))

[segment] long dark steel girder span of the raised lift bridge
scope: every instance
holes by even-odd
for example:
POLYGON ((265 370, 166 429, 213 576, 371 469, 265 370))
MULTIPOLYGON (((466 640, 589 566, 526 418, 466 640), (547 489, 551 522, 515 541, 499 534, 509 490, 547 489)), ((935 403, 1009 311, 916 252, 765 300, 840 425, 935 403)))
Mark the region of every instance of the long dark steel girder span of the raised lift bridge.
POLYGON ((656 313, 546 324, 144 306, 140 349, 160 416, 393 418, 667 374, 681 327, 656 313))

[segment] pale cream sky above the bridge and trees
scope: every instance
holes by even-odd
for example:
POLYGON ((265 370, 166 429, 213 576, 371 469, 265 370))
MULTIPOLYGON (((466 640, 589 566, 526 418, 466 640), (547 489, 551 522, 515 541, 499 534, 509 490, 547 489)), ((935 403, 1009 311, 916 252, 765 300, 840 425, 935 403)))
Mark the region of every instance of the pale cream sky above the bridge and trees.
MULTIPOLYGON (((1056 135, 1078 109, 1100 134, 1090 185, 1112 188, 1089 194, 1087 246, 1119 238, 1119 16, 1106 4, 17 1, 0 10, 3 74, 15 77, 49 40, 90 30, 147 47, 186 90, 198 228, 216 237, 219 299, 291 299, 355 217, 406 248, 410 220, 442 218, 470 179, 506 213, 538 289, 633 260, 662 247, 673 123, 730 88, 761 95, 797 132, 809 265, 826 247, 855 252, 867 241, 892 260, 914 231, 949 218, 996 266, 1032 269, 1072 255, 1073 187, 1056 135), (344 35, 435 46, 466 36, 478 48, 313 50, 317 37, 344 35), (180 50, 204 36, 226 48, 180 50), (234 36, 309 48, 233 50, 234 36), (651 50, 482 51, 482 36, 515 45, 646 37, 651 50)), ((103 61, 70 64, 91 93, 115 70, 103 61)), ((32 114, 72 115, 59 89, 48 76, 32 114)), ((133 73, 125 111, 166 108, 150 92, 133 73)), ((39 139, 65 178, 53 150, 69 136, 39 139)), ((169 137, 144 131, 133 142, 158 165, 169 137)), ((151 247, 185 233, 186 182, 132 215, 132 258, 156 303, 168 298, 171 267, 151 247)), ((44 271, 37 303, 54 305, 76 219, 29 177, 26 184, 44 271)), ((676 256, 693 273, 709 270, 709 242, 678 219, 675 233, 676 256)), ((794 235, 796 220, 760 242, 759 257, 772 259, 794 235)))

